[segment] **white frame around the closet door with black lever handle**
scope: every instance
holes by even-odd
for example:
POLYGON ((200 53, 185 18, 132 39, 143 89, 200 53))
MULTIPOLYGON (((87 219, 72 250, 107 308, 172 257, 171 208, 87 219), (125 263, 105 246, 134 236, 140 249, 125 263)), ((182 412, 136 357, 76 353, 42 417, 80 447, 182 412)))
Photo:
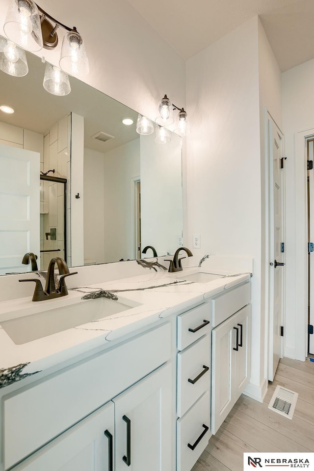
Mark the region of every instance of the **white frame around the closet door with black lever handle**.
MULTIPOLYGON (((265 130, 265 166, 264 166, 264 179, 265 179, 265 186, 264 186, 264 202, 265 202, 265 214, 264 214, 264 306, 266 310, 266 315, 265 315, 265 363, 264 363, 264 373, 265 373, 265 378, 269 378, 269 328, 270 328, 270 302, 271 302, 271 297, 270 297, 270 282, 271 282, 271 276, 270 276, 270 269, 274 269, 274 267, 270 266, 270 262, 273 262, 273 260, 270 260, 270 204, 272 203, 270 201, 270 152, 269 152, 269 122, 273 122, 274 125, 277 127, 278 131, 282 135, 282 156, 284 156, 285 152, 285 141, 284 141, 284 133, 281 131, 280 127, 272 118, 271 114, 267 110, 267 108, 264 108, 264 130, 265 130)), ((286 223, 285 223, 285 203, 286 203, 286 189, 285 189, 285 178, 284 174, 282 173, 282 239, 285 241, 286 239, 286 223)), ((284 326, 285 329, 285 300, 286 300, 286 293, 285 293, 285 288, 286 288, 286 283, 285 283, 285 273, 283 273, 283 281, 282 281, 282 315, 281 315, 281 325, 284 326)), ((281 341, 281 357, 284 356, 284 338, 282 337, 281 341)))

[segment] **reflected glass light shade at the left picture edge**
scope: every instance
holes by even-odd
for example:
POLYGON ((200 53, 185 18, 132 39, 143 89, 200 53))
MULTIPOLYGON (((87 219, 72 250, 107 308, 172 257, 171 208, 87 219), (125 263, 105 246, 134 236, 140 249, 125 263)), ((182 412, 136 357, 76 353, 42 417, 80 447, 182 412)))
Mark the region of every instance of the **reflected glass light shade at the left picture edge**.
POLYGON ((14 77, 24 77, 28 72, 25 51, 0 36, 0 69, 14 77))

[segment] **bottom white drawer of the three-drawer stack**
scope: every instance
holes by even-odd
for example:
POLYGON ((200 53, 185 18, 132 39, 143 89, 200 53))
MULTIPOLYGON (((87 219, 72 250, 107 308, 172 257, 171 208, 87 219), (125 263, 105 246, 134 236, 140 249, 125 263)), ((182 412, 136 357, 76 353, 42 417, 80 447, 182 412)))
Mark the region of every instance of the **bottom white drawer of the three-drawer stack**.
POLYGON ((177 471, 190 471, 208 444, 211 436, 209 403, 209 392, 206 391, 194 406, 177 420, 177 471))

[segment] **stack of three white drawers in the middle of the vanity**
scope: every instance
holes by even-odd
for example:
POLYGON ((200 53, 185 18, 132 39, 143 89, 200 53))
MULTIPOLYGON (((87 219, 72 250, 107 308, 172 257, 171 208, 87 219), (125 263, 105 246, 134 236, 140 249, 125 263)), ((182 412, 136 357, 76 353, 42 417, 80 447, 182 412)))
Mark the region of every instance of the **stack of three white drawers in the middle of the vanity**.
POLYGON ((190 471, 210 437, 210 304, 178 316, 177 471, 190 471))

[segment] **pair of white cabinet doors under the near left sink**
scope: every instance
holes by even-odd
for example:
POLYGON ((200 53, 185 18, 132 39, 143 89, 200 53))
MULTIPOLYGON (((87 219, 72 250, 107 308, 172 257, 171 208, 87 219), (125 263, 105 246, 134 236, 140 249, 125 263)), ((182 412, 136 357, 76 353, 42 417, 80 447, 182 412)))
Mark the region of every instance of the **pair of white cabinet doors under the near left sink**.
POLYGON ((166 364, 14 471, 169 471, 170 462, 171 365, 166 364))

